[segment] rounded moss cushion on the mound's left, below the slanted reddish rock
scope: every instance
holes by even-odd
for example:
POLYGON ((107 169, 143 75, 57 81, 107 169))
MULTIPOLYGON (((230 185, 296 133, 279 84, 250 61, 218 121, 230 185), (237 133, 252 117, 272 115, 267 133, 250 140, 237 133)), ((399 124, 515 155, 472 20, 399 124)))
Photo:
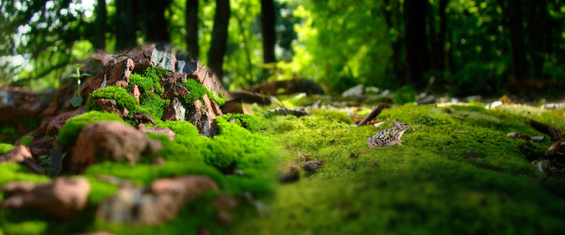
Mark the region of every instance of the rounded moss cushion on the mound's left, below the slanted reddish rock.
POLYGON ((135 97, 129 95, 126 88, 121 88, 119 86, 111 85, 109 87, 100 88, 95 90, 88 97, 86 102, 86 112, 89 111, 102 111, 97 104, 90 102, 91 99, 112 99, 116 100, 116 106, 118 108, 126 108, 129 112, 134 113, 138 111, 138 102, 135 97))

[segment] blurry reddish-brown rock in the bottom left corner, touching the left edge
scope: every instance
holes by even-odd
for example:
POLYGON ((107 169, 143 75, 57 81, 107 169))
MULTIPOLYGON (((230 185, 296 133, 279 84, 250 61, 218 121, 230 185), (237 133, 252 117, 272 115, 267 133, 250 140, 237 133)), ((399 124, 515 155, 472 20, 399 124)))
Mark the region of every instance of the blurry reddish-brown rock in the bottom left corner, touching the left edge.
POLYGON ((61 219, 71 219, 86 207, 90 183, 78 176, 59 177, 42 185, 12 182, 1 191, 9 196, 0 208, 39 208, 61 219))

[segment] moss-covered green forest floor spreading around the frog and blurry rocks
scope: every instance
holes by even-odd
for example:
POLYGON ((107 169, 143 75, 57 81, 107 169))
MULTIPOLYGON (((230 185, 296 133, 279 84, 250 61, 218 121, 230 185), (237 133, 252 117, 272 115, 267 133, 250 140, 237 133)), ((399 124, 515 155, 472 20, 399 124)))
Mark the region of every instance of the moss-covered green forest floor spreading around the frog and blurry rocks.
MULTIPOLYGON (((305 101, 283 104, 301 107, 305 101)), ((159 155, 165 164, 142 160, 135 166, 91 166, 83 174, 92 185, 89 204, 77 217, 59 221, 36 210, 0 210, 0 234, 559 234, 565 228, 565 169, 545 156, 552 136, 535 143, 507 135, 543 135, 528 119, 562 131, 563 107, 404 104, 383 109, 377 120, 385 123, 378 127, 355 126, 348 116, 365 116, 372 107, 311 109, 311 115, 299 117, 267 117, 268 107, 254 109, 253 115, 221 119, 214 140, 192 136, 191 127, 157 123, 177 134, 175 141, 152 136, 165 150, 149 157, 159 155), (395 119, 410 124, 403 146, 371 149, 367 138, 395 119), (196 167, 186 164, 183 146, 192 145, 215 147, 212 153, 199 147, 196 152, 216 168, 229 168, 215 162, 225 159, 218 156, 233 157, 243 173, 198 167, 198 156, 189 157, 196 167), (323 167, 302 170, 309 161, 323 167), (101 174, 144 186, 195 172, 217 181, 220 190, 201 195, 173 219, 148 226, 95 217, 97 205, 121 187, 100 181, 101 174), (297 174, 299 179, 278 183, 277 174, 297 174), (239 206, 210 207, 226 194, 239 206)), ((0 164, 1 186, 20 180, 49 181, 18 164, 0 164)), ((5 196, 0 193, 0 201, 5 196)))

